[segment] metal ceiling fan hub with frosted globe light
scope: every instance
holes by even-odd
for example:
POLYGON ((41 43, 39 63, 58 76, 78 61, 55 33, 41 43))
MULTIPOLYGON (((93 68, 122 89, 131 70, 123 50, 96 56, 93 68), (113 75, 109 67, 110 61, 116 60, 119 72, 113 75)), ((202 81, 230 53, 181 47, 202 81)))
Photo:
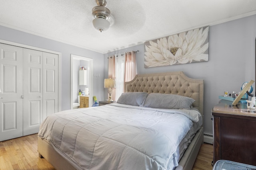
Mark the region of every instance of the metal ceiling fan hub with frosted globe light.
POLYGON ((106 0, 95 0, 98 6, 92 8, 92 15, 94 20, 92 21, 95 29, 100 32, 106 31, 110 25, 114 24, 114 17, 110 14, 110 10, 106 8, 106 0))

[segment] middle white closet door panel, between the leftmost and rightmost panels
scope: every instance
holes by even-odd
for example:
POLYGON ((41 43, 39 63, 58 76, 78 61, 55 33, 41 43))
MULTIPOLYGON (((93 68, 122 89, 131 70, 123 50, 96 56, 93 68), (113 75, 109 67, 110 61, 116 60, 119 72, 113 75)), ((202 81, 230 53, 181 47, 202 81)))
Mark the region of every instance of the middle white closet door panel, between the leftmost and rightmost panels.
POLYGON ((24 63, 24 104, 23 134, 38 133, 42 122, 42 58, 43 52, 23 50, 24 63))

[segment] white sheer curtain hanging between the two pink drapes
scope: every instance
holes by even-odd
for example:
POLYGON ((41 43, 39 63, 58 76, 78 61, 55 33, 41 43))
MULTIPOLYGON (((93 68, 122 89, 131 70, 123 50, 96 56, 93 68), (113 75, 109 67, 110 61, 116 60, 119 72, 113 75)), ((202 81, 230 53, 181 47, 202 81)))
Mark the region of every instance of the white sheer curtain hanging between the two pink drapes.
POLYGON ((116 74, 116 95, 115 99, 121 96, 124 91, 124 62, 125 55, 118 54, 115 55, 115 74, 116 74))

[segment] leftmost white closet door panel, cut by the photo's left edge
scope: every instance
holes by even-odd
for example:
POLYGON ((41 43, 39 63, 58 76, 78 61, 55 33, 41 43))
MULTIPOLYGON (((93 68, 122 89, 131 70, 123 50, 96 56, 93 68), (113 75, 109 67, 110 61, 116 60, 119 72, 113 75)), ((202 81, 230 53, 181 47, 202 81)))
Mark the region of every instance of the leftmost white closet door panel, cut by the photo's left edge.
POLYGON ((0 43, 0 141, 23 135, 22 48, 0 43))

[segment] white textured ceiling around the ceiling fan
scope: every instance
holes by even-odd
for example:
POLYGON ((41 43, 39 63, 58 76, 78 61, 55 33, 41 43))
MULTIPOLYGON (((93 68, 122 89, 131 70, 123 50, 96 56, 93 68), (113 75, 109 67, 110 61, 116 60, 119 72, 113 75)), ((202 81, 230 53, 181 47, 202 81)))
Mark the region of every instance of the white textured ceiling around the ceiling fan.
POLYGON ((95 0, 0 0, 0 25, 99 53, 256 14, 256 0, 106 0, 115 23, 92 25, 95 0))

